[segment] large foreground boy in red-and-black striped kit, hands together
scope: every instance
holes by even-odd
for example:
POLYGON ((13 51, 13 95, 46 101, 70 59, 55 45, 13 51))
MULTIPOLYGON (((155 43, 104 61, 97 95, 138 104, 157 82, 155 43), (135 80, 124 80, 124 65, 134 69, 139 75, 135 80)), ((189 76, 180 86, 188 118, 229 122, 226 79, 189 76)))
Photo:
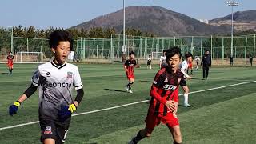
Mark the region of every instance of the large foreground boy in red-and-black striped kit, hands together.
POLYGON ((176 112, 178 110, 178 86, 186 86, 182 72, 178 70, 181 59, 181 50, 172 47, 166 50, 166 62, 168 66, 158 71, 151 86, 150 107, 146 116, 146 127, 140 130, 130 144, 136 144, 146 137, 150 137, 154 127, 160 122, 168 126, 174 144, 182 143, 182 134, 176 112))

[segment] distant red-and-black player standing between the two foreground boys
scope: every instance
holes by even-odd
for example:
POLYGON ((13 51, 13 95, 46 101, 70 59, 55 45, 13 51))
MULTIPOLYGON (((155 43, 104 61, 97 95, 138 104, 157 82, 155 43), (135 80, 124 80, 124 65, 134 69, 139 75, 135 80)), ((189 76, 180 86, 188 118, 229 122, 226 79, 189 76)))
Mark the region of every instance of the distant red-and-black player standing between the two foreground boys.
POLYGON ((135 58, 135 54, 133 51, 129 54, 130 58, 126 60, 126 63, 124 64, 124 68, 126 70, 126 76, 128 79, 128 84, 126 85, 126 90, 128 93, 133 93, 131 90, 131 86, 134 84, 135 76, 134 76, 134 67, 138 68, 140 66, 137 65, 135 58))

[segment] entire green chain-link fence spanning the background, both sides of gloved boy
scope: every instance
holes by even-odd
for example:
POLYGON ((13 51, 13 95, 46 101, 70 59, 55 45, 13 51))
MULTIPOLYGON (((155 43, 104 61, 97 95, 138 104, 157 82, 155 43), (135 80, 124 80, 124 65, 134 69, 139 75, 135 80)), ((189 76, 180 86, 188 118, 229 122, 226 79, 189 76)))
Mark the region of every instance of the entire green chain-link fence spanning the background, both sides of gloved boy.
MULTIPOLYGON (((112 35, 111 38, 77 38, 74 41, 74 58, 79 62, 114 62, 122 61, 122 56, 128 57, 134 51, 138 60, 144 60, 149 54, 159 53, 171 46, 179 46, 184 55, 190 52, 202 58, 205 50, 210 50, 215 64, 226 64, 231 56, 230 36, 190 36, 170 38, 150 38, 126 36, 126 46, 123 46, 122 35, 112 35)), ((233 58, 234 62, 248 61, 255 58, 255 34, 234 36, 233 58)), ((6 61, 8 51, 43 52, 44 61, 48 61, 52 54, 48 40, 44 38, 14 37, 11 27, 0 27, 0 61, 6 61)), ((145 61, 146 62, 146 61, 145 61)))

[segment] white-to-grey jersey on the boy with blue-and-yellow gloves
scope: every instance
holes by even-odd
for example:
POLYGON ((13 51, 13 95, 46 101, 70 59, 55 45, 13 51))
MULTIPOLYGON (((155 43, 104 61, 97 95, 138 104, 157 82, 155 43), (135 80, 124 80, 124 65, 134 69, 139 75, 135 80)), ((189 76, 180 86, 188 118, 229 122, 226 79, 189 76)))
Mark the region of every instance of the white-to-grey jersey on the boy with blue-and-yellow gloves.
POLYGON ((39 118, 57 118, 61 106, 73 102, 72 90, 83 87, 78 67, 69 63, 46 62, 38 66, 31 81, 39 87, 39 118))

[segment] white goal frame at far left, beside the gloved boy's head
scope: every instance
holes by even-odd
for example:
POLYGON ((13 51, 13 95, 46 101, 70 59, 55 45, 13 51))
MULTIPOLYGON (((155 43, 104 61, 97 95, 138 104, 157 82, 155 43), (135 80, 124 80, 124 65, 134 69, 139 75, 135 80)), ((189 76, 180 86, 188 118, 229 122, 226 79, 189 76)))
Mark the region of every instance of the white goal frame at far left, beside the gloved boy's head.
POLYGON ((42 63, 43 53, 20 51, 16 53, 15 59, 15 62, 18 63, 42 63))

